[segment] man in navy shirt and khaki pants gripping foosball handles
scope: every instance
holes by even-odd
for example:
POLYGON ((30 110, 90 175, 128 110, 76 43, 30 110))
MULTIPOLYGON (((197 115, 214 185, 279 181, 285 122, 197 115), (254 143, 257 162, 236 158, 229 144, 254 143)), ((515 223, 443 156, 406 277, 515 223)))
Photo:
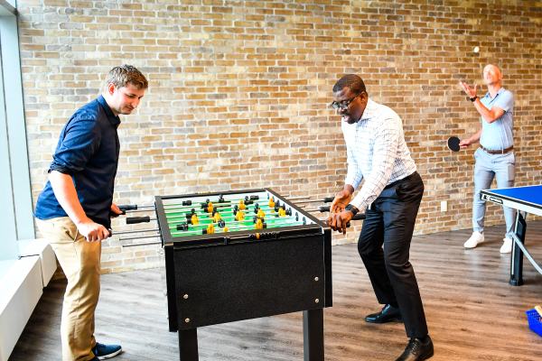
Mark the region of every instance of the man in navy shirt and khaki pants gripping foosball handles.
POLYGON ((130 65, 112 69, 102 95, 82 106, 62 129, 49 181, 38 197, 36 223, 68 278, 62 306, 63 361, 98 361, 117 356, 118 345, 94 338, 101 242, 107 239, 117 174, 118 115, 139 106, 148 88, 145 76, 130 65))

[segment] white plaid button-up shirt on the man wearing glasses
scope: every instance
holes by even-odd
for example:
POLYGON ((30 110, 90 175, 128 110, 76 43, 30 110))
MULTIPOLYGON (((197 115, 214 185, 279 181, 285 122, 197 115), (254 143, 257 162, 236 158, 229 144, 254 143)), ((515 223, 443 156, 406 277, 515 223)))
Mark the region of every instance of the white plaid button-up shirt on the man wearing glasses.
POLYGON ((416 171, 416 164, 406 147, 401 118, 388 106, 368 99, 356 124, 342 123, 342 134, 348 152, 346 184, 356 190, 365 183, 350 204, 362 211, 394 181, 416 171))

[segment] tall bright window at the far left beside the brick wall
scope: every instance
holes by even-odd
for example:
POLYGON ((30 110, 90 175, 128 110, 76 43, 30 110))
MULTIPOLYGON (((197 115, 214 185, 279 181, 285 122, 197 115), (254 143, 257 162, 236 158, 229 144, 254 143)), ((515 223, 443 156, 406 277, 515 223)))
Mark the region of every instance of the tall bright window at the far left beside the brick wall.
POLYGON ((0 0, 0 69, 0 261, 5 261, 17 258, 17 241, 35 237, 14 0, 0 0))

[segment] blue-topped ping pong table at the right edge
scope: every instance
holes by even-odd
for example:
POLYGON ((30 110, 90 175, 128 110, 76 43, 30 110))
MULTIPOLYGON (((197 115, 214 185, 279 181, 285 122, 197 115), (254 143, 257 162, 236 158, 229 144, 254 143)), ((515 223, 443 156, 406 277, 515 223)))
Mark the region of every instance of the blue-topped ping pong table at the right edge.
POLYGON ((527 230, 525 219, 527 218, 527 214, 533 213, 537 216, 542 216, 542 185, 502 188, 498 190, 481 190, 480 198, 517 210, 514 235, 512 236, 513 242, 509 283, 512 286, 520 286, 523 284, 524 254, 530 263, 535 266, 537 271, 542 273, 542 268, 540 268, 533 257, 528 253, 527 248, 525 248, 525 232, 527 230), (521 212, 523 212, 523 215, 521 215, 521 212))

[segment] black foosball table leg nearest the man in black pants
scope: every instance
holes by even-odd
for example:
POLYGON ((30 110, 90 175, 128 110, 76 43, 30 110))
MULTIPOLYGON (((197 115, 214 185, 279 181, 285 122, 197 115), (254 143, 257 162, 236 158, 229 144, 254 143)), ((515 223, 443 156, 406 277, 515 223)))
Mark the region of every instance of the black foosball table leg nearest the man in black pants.
POLYGON ((323 361, 323 310, 303 311, 304 361, 323 361))

